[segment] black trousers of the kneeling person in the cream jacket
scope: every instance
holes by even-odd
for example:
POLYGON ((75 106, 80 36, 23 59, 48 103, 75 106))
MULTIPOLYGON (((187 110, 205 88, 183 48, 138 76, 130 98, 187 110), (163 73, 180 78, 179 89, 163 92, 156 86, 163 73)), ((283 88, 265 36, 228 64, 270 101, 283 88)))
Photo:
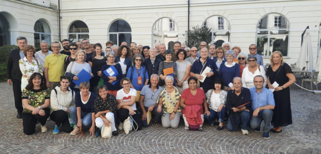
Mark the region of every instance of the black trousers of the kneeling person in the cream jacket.
POLYGON ((68 114, 63 110, 57 110, 51 113, 50 119, 56 122, 56 126, 62 124, 61 130, 66 133, 70 133, 74 130, 73 127, 70 127, 68 114))

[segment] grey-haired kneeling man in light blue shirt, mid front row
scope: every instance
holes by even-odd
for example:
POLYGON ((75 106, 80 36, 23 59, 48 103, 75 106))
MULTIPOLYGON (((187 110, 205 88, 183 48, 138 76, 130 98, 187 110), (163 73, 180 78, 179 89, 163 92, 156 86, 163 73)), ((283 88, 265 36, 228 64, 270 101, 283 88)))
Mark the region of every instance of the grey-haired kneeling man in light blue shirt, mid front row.
MULTIPOLYGON (((142 87, 140 91, 140 97, 139 97, 139 106, 140 109, 142 109, 141 113, 141 120, 142 120, 142 126, 148 127, 147 124, 147 112, 150 111, 152 114, 152 117, 154 118, 154 123, 159 124, 161 121, 163 110, 158 113, 158 102, 157 98, 159 93, 163 90, 162 87, 158 86, 159 76, 157 74, 151 75, 151 84, 146 85, 142 87)), ((150 117, 150 118, 152 118, 150 117)), ((151 121, 152 122, 152 121, 151 121)), ((150 122, 150 124, 151 124, 150 122)))

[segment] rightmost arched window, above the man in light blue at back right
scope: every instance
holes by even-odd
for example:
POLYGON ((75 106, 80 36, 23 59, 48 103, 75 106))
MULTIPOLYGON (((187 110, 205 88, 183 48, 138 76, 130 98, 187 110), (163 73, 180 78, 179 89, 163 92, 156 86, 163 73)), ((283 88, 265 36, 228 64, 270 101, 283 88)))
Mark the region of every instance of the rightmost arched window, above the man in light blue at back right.
POLYGON ((288 56, 289 22, 280 14, 268 14, 257 25, 257 54, 271 56, 280 51, 288 56))

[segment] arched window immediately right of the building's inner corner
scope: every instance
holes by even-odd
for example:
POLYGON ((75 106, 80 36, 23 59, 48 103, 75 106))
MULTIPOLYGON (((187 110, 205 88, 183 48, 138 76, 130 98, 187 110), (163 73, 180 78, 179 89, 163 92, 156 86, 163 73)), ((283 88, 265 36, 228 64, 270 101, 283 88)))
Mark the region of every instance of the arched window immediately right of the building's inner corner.
POLYGON ((89 40, 88 26, 82 21, 75 21, 70 25, 68 32, 69 39, 72 42, 82 41, 84 38, 89 40))

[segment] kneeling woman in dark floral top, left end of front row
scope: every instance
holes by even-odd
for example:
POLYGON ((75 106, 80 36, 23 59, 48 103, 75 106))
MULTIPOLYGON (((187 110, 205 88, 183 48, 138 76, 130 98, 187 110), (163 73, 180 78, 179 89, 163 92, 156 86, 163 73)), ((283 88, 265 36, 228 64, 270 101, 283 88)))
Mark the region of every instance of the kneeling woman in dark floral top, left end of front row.
POLYGON ((46 122, 50 115, 50 93, 40 73, 30 76, 28 85, 22 90, 23 132, 31 135, 35 131, 37 121, 41 123, 41 132, 47 132, 46 122))

